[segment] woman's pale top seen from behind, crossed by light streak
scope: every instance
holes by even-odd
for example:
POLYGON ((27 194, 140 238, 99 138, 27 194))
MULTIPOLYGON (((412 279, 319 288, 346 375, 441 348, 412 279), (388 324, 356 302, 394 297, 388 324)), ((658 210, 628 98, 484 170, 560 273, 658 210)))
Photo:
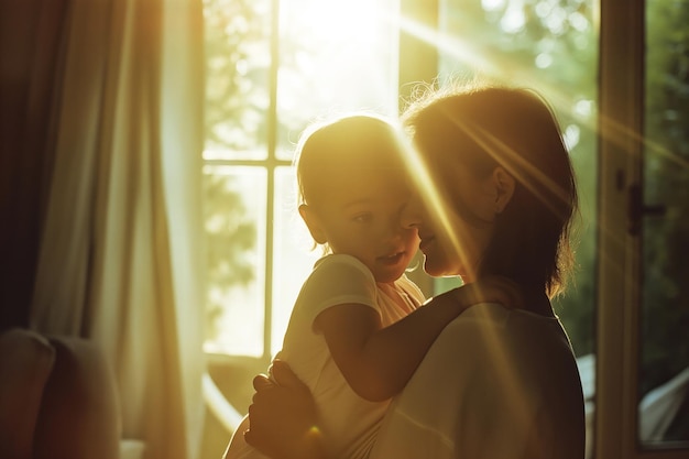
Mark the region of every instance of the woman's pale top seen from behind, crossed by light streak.
POLYGON ((582 459, 581 383, 559 319, 481 304, 390 406, 371 459, 582 459))

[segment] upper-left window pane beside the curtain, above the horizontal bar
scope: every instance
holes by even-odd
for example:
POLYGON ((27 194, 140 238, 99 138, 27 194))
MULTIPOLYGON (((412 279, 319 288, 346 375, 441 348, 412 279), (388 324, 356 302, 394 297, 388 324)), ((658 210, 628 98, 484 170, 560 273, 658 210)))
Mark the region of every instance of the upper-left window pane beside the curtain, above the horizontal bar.
POLYGON ((205 159, 263 160, 271 0, 205 0, 205 159))

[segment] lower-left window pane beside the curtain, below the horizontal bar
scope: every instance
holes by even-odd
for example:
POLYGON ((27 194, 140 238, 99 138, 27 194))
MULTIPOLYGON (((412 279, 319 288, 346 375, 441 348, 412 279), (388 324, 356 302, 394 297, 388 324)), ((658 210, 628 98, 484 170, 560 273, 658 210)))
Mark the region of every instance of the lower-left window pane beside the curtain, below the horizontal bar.
POLYGON ((208 352, 263 354, 266 174, 210 166, 205 175, 208 352))

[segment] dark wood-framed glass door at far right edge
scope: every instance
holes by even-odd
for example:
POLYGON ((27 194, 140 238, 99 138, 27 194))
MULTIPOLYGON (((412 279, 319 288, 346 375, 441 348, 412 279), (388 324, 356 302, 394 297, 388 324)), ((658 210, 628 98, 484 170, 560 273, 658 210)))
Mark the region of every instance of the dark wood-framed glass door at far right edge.
POLYGON ((597 458, 689 457, 687 1, 601 1, 597 458))

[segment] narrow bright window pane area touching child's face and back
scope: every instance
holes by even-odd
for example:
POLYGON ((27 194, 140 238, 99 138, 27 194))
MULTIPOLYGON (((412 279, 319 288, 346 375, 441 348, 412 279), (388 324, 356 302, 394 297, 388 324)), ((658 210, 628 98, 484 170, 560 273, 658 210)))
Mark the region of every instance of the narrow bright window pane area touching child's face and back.
POLYGON ((299 217, 295 181, 293 167, 275 171, 272 354, 282 348, 299 288, 321 254, 319 248, 314 250, 314 240, 299 217))

